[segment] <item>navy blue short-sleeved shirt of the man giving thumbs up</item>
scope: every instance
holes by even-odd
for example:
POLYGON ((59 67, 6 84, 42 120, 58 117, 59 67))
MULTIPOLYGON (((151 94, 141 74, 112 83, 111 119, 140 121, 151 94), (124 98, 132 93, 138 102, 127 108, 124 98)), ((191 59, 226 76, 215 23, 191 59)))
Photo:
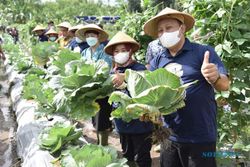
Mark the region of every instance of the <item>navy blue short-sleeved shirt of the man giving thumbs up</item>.
POLYGON ((188 39, 175 57, 166 50, 151 61, 151 70, 166 68, 180 76, 183 83, 198 80, 198 83, 186 90, 185 107, 164 116, 165 123, 173 130, 170 140, 183 143, 216 141, 217 105, 214 88, 201 73, 204 53, 207 50, 210 52, 209 62, 216 64, 221 74, 227 75, 223 63, 212 47, 191 43, 188 39))

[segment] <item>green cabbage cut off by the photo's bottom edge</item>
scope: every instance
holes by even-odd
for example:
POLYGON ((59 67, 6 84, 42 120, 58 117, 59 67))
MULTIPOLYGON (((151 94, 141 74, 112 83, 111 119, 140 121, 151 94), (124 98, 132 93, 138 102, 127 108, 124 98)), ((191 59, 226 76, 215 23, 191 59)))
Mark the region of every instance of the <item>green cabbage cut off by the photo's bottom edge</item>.
POLYGON ((82 148, 72 148, 62 153, 62 167, 128 167, 125 158, 118 159, 112 147, 87 144, 82 148))

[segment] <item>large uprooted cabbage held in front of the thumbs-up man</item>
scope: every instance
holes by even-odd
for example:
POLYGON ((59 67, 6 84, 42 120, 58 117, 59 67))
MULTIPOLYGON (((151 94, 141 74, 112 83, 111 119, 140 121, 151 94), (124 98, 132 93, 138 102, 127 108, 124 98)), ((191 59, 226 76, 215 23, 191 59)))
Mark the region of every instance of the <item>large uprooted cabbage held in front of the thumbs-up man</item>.
POLYGON ((163 68, 154 72, 126 70, 125 80, 131 97, 115 91, 109 102, 119 103, 112 116, 127 122, 145 114, 157 121, 161 114, 168 115, 184 107, 185 89, 195 82, 181 85, 178 76, 163 68))

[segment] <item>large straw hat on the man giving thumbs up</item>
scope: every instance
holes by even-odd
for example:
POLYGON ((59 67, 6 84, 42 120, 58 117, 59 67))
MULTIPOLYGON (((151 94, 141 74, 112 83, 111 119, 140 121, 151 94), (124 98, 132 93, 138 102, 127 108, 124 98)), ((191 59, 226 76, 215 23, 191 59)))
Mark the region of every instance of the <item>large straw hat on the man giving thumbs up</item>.
POLYGON ((157 24, 159 20, 164 18, 174 18, 184 23, 186 25, 186 32, 194 26, 195 22, 193 16, 191 16, 190 14, 179 12, 177 10, 166 7, 160 13, 158 13, 156 16, 154 16, 144 24, 145 34, 157 38, 157 24))

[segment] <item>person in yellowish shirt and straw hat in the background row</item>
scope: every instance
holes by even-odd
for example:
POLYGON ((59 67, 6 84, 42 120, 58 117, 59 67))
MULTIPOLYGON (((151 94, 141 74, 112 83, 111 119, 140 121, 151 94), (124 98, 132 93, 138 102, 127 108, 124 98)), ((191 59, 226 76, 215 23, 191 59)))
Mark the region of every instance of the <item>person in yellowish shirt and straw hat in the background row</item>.
POLYGON ((57 27, 59 28, 59 38, 57 40, 57 42, 60 45, 60 48, 65 48, 69 41, 71 40, 71 37, 69 36, 68 30, 71 27, 69 22, 62 22, 59 25, 57 25, 57 27))

